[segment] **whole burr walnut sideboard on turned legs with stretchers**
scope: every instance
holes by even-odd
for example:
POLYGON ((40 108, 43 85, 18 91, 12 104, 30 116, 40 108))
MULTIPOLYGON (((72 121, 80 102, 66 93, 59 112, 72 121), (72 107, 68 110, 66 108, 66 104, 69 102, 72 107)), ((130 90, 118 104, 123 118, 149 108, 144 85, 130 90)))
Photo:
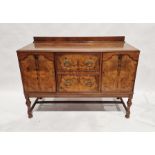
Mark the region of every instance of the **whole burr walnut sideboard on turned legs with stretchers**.
POLYGON ((89 103, 122 104, 129 118, 139 52, 124 36, 34 37, 17 50, 28 117, 36 104, 62 103, 45 97, 115 97, 89 103))

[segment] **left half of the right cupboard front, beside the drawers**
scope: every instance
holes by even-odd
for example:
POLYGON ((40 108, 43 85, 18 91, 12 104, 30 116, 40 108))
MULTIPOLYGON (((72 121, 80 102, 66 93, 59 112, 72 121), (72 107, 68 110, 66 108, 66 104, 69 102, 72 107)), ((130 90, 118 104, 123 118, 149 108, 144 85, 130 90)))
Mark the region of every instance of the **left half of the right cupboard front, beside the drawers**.
POLYGON ((102 92, 118 90, 118 55, 103 53, 102 62, 102 92))

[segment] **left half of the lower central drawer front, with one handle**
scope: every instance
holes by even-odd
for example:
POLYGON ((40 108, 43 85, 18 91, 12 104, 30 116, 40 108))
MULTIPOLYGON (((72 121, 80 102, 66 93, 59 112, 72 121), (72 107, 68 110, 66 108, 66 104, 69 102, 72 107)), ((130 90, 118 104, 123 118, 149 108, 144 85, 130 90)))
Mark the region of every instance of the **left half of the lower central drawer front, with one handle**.
POLYGON ((76 75, 59 75, 58 76, 59 92, 78 92, 79 84, 76 75))

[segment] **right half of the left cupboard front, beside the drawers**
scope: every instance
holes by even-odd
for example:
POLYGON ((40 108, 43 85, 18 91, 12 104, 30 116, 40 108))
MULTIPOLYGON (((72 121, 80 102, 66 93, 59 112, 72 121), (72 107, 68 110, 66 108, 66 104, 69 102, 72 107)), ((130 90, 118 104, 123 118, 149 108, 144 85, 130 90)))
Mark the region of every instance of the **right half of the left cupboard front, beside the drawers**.
POLYGON ((40 91, 55 92, 55 71, 53 63, 53 54, 45 53, 38 56, 38 79, 40 91))

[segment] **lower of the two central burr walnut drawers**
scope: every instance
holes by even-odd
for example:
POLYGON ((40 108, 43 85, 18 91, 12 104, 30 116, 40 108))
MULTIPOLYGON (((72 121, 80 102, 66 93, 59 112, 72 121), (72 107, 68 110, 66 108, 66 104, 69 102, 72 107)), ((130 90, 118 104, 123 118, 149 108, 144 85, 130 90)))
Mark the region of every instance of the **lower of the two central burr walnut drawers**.
POLYGON ((97 75, 59 75, 59 92, 98 92, 99 79, 97 75))

